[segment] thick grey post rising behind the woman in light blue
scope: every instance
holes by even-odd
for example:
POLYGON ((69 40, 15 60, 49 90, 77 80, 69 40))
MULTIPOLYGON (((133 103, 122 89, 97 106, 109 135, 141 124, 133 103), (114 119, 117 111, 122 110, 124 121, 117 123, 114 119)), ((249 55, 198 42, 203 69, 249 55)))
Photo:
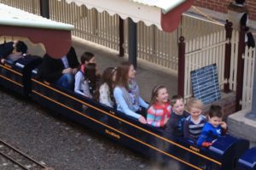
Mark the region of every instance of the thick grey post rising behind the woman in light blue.
POLYGON ((129 38, 128 38, 128 54, 129 61, 137 68, 137 24, 129 18, 129 38))

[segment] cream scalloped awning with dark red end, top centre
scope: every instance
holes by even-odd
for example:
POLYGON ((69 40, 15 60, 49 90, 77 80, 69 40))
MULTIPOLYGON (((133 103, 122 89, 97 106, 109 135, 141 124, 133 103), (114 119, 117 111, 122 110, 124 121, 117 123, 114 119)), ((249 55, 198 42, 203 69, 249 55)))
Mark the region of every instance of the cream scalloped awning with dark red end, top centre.
MULTIPOLYGON (((61 1, 61 0, 59 0, 61 1)), ((177 28, 181 15, 195 0, 66 0, 67 3, 96 8, 98 12, 118 14, 122 19, 143 21, 146 26, 155 25, 163 31, 177 28)))

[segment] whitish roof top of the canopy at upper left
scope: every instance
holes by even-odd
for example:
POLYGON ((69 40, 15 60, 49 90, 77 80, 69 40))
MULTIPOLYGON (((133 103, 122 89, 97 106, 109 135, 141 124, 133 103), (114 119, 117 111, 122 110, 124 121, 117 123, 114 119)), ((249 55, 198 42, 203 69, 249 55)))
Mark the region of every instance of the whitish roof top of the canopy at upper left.
POLYGON ((36 14, 31 14, 19 8, 9 7, 0 3, 0 25, 28 26, 58 30, 73 30, 74 26, 49 20, 36 14))

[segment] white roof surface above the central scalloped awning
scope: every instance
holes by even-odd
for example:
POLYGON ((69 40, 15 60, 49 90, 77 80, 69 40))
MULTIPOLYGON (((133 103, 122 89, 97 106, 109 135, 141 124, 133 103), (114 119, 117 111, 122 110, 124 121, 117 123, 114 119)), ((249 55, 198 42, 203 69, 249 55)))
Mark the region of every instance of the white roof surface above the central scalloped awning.
POLYGON ((166 14, 169 11, 171 11, 173 8, 176 8, 181 3, 184 3, 186 0, 130 0, 130 1, 161 8, 162 12, 166 14))

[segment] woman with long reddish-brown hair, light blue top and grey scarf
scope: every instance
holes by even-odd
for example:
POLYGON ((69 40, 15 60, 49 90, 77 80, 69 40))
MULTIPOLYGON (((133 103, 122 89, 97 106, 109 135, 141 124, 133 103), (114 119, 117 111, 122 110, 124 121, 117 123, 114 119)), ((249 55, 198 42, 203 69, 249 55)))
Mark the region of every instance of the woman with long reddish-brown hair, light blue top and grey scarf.
POLYGON ((116 74, 113 97, 116 101, 117 110, 124 112, 128 116, 138 119, 139 122, 147 123, 140 113, 146 111, 148 104, 140 97, 139 88, 135 81, 133 65, 123 62, 119 65, 116 74))

